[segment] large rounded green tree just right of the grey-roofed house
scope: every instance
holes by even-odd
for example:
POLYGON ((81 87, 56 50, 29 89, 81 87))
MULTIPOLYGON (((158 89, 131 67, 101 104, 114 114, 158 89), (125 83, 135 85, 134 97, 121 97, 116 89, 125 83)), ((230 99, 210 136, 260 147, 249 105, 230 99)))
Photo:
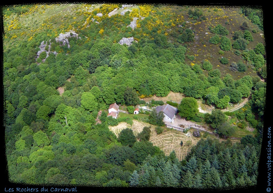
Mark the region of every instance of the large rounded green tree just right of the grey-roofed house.
POLYGON ((185 97, 182 99, 180 105, 178 105, 179 115, 192 119, 198 112, 198 105, 196 99, 193 97, 185 97))

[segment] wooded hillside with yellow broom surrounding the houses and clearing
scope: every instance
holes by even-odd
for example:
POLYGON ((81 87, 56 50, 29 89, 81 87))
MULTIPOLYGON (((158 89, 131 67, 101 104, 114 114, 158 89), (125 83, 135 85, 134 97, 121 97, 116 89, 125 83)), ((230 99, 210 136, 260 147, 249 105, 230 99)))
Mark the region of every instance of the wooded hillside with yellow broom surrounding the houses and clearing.
POLYGON ((260 9, 244 7, 3 7, 9 180, 194 189, 256 185, 266 92, 262 16, 260 9), (191 129, 198 143, 183 160, 150 140, 154 127, 156 136, 172 131, 163 114, 130 115, 139 105, 164 105, 150 98, 170 93, 183 94, 178 103, 167 102, 182 118, 215 134, 191 129), (228 111, 243 101, 242 108, 228 111), (112 103, 130 114, 107 117, 112 103), (199 112, 200 104, 213 107, 211 113, 199 112), (135 120, 150 126, 138 134, 109 130, 135 120))

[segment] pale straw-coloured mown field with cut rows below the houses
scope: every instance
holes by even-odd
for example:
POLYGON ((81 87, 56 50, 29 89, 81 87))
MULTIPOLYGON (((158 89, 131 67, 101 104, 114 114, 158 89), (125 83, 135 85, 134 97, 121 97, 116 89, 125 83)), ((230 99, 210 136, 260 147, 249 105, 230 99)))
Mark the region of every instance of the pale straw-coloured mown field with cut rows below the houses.
MULTIPOLYGON (((131 126, 128 123, 119 123, 117 126, 109 126, 109 130, 112 131, 116 136, 125 128, 130 128, 133 130, 134 134, 137 135, 143 130, 143 127, 150 126, 148 123, 143 123, 137 120, 133 120, 133 125, 131 126)), ((164 151, 166 155, 169 155, 173 150, 175 151, 179 161, 182 161, 188 152, 191 151, 191 148, 197 144, 201 138, 196 138, 192 135, 192 131, 189 131, 188 134, 184 134, 177 130, 168 130, 159 135, 156 134, 155 126, 151 127, 151 137, 150 142, 159 147, 164 151), (183 141, 183 146, 180 146, 181 141, 183 141)))

